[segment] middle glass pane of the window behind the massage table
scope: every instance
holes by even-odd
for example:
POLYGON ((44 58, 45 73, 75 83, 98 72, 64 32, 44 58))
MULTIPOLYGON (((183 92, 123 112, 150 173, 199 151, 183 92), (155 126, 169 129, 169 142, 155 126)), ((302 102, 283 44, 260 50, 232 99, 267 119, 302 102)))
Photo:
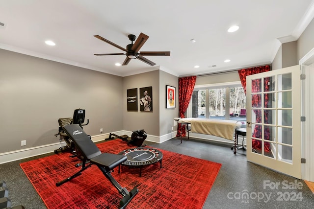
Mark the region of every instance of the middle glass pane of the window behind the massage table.
POLYGON ((209 89, 209 118, 225 119, 226 89, 209 89))

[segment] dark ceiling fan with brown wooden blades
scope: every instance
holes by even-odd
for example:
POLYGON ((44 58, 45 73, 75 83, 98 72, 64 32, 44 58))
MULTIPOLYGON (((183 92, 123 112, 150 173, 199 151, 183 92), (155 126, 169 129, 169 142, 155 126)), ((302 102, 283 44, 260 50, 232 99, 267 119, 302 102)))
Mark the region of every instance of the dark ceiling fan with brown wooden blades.
POLYGON ((156 63, 150 61, 149 59, 143 57, 143 56, 170 56, 170 51, 140 51, 139 49, 144 45, 144 43, 147 41, 147 39, 149 38, 148 35, 145 35, 144 33, 140 33, 138 38, 136 39, 135 35, 128 35, 130 41, 132 42, 131 44, 127 45, 127 48, 123 48, 119 45, 116 45, 108 40, 106 40, 105 38, 99 36, 99 35, 95 35, 94 37, 104 41, 105 43, 108 43, 112 46, 115 46, 117 48, 120 48, 121 50, 125 51, 126 53, 109 53, 109 54, 94 54, 96 56, 103 56, 103 55, 122 55, 125 54, 127 55, 127 58, 124 60, 122 65, 128 65, 129 62, 131 61, 131 59, 138 59, 150 66, 154 66, 156 65, 156 63), (136 39, 136 41, 135 41, 136 39), (133 41, 135 41, 135 43, 133 44, 133 41))

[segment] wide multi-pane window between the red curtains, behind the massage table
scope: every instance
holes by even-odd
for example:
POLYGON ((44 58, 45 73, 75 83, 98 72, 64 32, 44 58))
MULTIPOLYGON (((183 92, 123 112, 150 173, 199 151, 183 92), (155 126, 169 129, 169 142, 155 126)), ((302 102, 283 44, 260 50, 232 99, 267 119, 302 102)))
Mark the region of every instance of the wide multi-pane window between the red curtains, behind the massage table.
POLYGON ((241 84, 195 86, 187 117, 246 121, 246 96, 241 84))

